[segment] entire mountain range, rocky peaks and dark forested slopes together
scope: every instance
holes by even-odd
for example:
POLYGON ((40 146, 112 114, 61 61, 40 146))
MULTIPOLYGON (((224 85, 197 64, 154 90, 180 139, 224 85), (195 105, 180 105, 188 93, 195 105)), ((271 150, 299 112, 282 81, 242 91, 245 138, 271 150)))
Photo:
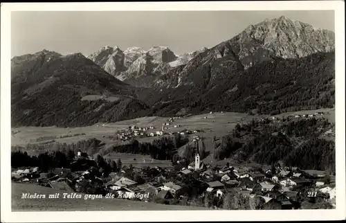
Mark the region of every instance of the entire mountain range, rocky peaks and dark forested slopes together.
POLYGON ((13 57, 12 124, 332 107, 334 39, 329 30, 279 17, 183 55, 165 46, 106 46, 87 57, 46 50, 13 57))

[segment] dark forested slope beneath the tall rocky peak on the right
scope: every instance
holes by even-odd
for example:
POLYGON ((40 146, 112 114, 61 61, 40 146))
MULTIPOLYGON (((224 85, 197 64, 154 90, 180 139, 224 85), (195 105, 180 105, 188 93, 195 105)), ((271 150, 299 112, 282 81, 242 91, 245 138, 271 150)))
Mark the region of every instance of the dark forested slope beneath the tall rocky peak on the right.
POLYGON ((315 53, 299 59, 277 57, 244 71, 236 69, 240 64, 228 58, 197 67, 185 80, 193 85, 147 90, 146 96, 142 92, 138 96, 156 116, 208 111, 280 114, 334 106, 334 53, 315 53))

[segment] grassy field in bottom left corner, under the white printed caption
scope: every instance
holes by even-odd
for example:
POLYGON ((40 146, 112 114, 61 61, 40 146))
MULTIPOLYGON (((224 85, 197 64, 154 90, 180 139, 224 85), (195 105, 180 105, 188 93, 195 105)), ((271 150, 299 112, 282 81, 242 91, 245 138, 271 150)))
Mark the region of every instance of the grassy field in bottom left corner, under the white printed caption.
POLYGON ((12 211, 167 211, 167 210, 208 210, 194 206, 177 206, 135 202, 127 199, 63 199, 63 190, 56 190, 34 184, 12 183, 12 211), (44 199, 21 199, 22 193, 46 195, 44 199), (48 195, 60 193, 60 198, 48 199, 48 195))

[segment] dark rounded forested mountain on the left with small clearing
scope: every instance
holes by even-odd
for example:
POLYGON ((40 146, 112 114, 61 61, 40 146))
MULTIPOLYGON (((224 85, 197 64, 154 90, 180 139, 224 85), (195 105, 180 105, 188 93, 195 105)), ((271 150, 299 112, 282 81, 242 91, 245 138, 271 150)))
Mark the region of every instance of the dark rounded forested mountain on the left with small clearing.
MULTIPOLYGON (((80 53, 29 62, 24 71, 12 70, 12 126, 115 122, 147 109, 131 86, 80 53)), ((29 62, 24 60, 23 67, 29 62)))

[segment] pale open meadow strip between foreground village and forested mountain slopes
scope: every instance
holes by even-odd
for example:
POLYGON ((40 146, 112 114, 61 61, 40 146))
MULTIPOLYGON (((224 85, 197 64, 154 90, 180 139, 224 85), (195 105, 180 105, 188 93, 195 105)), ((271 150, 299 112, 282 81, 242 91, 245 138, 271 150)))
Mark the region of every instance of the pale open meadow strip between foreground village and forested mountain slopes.
MULTIPOLYGON (((276 117, 290 116, 296 114, 313 114, 316 111, 325 112, 325 117, 331 123, 335 122, 335 109, 318 109, 307 111, 295 111, 284 114, 276 115, 276 117)), ((223 136, 231 132, 237 123, 246 123, 251 121, 252 118, 266 118, 267 115, 262 116, 248 116, 247 114, 234 113, 234 112, 217 112, 213 114, 201 114, 197 116, 190 116, 187 118, 176 119, 171 125, 167 125, 165 132, 179 132, 181 130, 203 130, 197 133, 206 139, 212 139, 213 136, 223 136), (207 117, 207 118, 204 118, 207 117), (174 125, 181 125, 181 127, 174 127, 174 125)), ((118 130, 123 130, 130 125, 137 125, 138 127, 155 126, 156 129, 148 130, 147 133, 156 132, 161 129, 162 123, 167 122, 168 118, 163 117, 143 117, 135 118, 127 121, 120 121, 118 123, 98 123, 87 127, 17 127, 12 128, 12 145, 26 145, 28 143, 53 143, 54 141, 60 143, 75 143, 85 139, 96 138, 102 140, 105 144, 110 145, 119 143, 109 139, 109 136, 114 136, 118 130), (47 139, 43 141, 42 139, 47 139)), ((190 135, 191 137, 194 134, 190 135)), ((140 142, 149 142, 156 137, 138 138, 140 142)), ((208 148, 208 145, 207 145, 208 148)), ((208 149, 207 149, 208 150, 208 149)))

